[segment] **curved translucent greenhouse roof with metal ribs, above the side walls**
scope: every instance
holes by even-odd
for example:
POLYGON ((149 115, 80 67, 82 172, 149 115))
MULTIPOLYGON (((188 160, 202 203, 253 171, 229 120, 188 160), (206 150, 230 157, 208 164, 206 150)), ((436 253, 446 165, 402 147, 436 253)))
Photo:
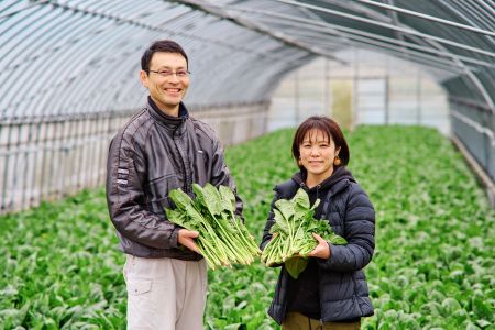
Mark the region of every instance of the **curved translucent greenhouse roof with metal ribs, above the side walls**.
POLYGON ((189 55, 188 103, 270 98, 316 56, 356 47, 431 69, 450 97, 494 111, 493 1, 66 0, 0 2, 0 117, 130 110, 140 58, 173 38, 189 55))

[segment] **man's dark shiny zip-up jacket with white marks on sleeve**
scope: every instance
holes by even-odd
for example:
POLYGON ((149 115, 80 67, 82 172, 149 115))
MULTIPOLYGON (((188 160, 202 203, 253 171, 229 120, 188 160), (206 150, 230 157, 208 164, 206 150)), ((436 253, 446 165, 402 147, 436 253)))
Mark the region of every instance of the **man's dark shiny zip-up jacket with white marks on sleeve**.
POLYGON ((107 165, 107 202, 117 228, 120 250, 141 257, 199 260, 177 245, 180 229, 166 220, 168 193, 182 188, 193 196, 193 183, 230 186, 242 201, 229 174, 223 150, 213 130, 188 116, 160 111, 151 99, 113 138, 107 165))

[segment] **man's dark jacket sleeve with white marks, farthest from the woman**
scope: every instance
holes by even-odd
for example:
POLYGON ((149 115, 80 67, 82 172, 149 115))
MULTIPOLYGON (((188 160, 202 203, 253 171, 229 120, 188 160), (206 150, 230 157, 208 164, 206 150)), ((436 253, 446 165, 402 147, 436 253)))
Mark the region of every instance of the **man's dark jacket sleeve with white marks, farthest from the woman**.
POLYGON ((144 208, 145 163, 142 152, 122 133, 110 143, 107 164, 107 204, 123 237, 152 248, 177 248, 179 228, 144 208))

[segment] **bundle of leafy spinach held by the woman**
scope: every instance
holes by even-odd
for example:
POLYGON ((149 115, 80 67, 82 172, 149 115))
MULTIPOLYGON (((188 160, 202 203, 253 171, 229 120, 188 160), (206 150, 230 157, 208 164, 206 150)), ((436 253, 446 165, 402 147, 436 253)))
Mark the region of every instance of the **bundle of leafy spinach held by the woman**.
POLYGON ((306 268, 308 255, 318 245, 312 233, 332 244, 346 244, 344 238, 332 231, 327 220, 314 218, 320 200, 311 207, 308 194, 299 188, 293 199, 278 199, 273 209, 275 223, 270 229, 272 240, 263 250, 262 261, 267 266, 284 263, 294 278, 306 268))

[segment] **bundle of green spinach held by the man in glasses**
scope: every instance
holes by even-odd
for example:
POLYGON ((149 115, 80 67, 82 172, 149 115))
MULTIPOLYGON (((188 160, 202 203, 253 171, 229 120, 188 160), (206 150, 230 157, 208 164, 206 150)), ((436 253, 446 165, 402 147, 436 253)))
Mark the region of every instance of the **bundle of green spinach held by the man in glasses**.
POLYGON ((197 246, 210 268, 251 264, 261 251, 239 216, 235 196, 226 186, 193 185, 193 200, 182 189, 174 189, 169 198, 175 209, 165 209, 167 219, 185 229, 199 232, 197 246))

